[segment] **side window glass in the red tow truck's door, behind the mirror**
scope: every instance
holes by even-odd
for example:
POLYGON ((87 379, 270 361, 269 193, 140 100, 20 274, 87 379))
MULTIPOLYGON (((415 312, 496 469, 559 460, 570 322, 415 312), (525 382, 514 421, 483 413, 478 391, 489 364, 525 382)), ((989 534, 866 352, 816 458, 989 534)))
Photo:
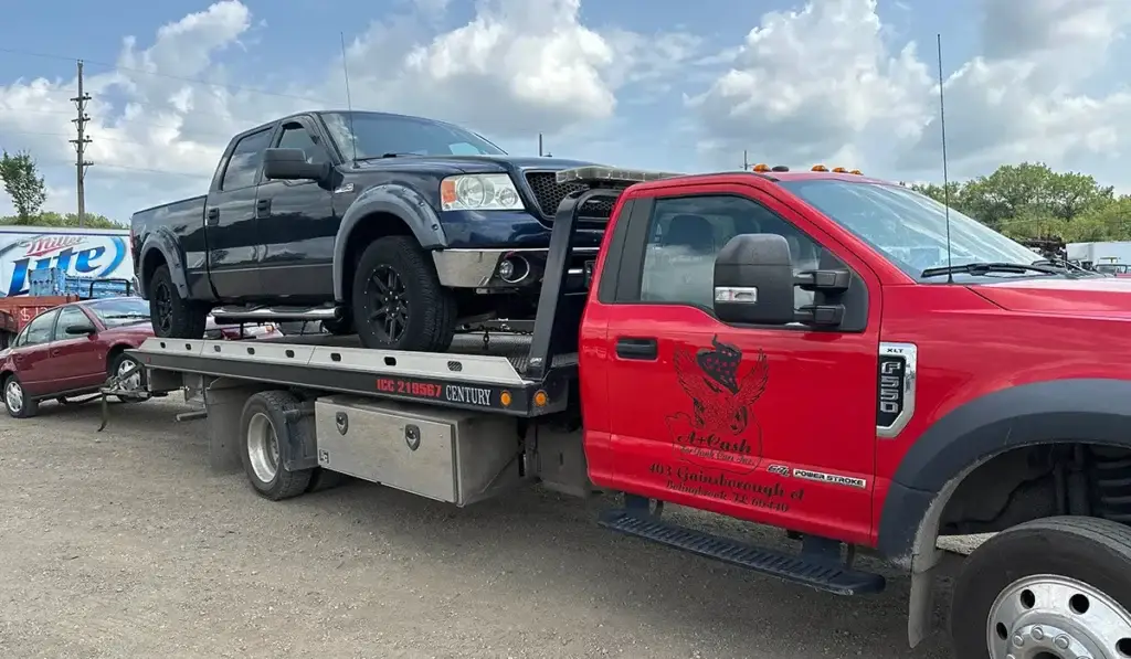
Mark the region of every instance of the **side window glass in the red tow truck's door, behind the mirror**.
MULTIPOLYGON (((768 233, 789 242, 793 266, 815 269, 835 259, 824 248, 766 207, 742 197, 698 196, 657 199, 648 227, 640 301, 714 305, 715 255, 739 234, 768 233)), ((813 293, 795 289, 800 307, 813 303, 813 293)))

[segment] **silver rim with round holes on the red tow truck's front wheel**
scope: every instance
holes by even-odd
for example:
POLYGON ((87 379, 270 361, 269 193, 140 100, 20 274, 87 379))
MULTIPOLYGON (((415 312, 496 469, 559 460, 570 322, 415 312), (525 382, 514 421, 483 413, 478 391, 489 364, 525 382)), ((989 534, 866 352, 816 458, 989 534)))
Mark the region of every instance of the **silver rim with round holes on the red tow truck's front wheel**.
POLYGON ((1131 659, 1131 613, 1067 576, 1013 582, 991 607, 987 626, 992 659, 1131 659))

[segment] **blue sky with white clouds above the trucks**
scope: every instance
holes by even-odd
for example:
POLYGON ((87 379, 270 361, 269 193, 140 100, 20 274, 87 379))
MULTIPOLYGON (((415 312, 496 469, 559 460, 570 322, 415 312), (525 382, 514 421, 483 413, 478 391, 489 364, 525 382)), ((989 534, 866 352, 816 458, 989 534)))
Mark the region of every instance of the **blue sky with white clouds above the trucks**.
MULTIPOLYGON (((67 98, 74 58, 83 58, 96 97, 87 207, 126 219, 206 185, 231 132, 299 107, 342 105, 344 32, 355 106, 464 123, 511 153, 535 153, 543 131, 555 155, 610 164, 732 168, 748 149, 752 162, 932 180, 942 33, 957 176, 1042 159, 1131 184, 1121 130, 1131 101, 1114 66, 1131 54, 1126 0, 328 7, 9 3, 0 147, 29 149, 48 179, 48 207, 74 210, 67 98)), ((0 213, 9 209, 0 196, 0 213)))

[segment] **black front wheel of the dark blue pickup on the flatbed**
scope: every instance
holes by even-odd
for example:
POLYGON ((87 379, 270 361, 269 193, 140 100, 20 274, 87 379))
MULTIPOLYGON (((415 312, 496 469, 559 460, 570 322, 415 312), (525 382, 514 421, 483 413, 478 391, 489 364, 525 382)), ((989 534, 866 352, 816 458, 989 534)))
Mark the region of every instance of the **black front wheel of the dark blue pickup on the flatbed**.
POLYGON ((354 271, 353 317, 366 348, 442 353, 456 333, 455 298, 440 285, 428 253, 411 236, 387 236, 365 248, 354 271), (371 283, 378 277, 383 280, 388 272, 400 283, 399 298, 407 307, 404 327, 392 338, 377 327, 382 322, 370 320, 380 309, 377 285, 371 283))

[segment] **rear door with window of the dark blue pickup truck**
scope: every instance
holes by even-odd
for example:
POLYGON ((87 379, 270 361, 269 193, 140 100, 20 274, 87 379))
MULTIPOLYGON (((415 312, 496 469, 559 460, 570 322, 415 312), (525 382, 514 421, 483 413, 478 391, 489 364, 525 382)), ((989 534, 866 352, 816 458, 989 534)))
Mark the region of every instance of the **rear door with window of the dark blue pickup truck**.
POLYGON ((205 232, 208 241, 208 278, 223 301, 262 295, 256 226, 256 185, 274 128, 245 135, 225 156, 219 184, 208 193, 205 232))

